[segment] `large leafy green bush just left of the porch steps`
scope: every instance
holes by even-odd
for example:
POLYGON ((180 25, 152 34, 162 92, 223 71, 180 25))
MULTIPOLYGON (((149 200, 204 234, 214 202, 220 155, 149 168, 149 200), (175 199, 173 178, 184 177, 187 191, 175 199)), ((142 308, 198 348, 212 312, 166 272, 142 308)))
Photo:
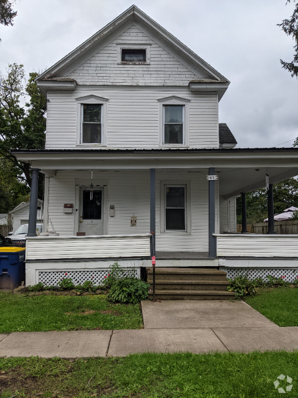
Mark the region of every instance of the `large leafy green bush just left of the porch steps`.
POLYGON ((141 279, 124 277, 116 280, 110 287, 108 298, 112 302, 137 304, 148 298, 149 285, 141 279))

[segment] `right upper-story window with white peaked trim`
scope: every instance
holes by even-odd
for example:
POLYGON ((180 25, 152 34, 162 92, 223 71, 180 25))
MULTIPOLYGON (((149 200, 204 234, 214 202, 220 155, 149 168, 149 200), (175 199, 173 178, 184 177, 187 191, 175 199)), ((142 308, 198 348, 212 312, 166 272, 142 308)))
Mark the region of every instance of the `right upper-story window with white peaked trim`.
POLYGON ((171 96, 159 102, 159 146, 189 146, 189 102, 186 98, 171 96))

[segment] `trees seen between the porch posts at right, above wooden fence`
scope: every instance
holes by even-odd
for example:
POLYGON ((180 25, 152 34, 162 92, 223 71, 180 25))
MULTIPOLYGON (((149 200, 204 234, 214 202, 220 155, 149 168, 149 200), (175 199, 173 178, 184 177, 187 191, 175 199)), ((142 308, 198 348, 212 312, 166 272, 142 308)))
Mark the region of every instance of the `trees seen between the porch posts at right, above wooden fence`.
MULTIPOLYGON (((298 207, 298 181, 295 178, 273 185, 274 212, 298 207)), ((267 190, 263 188, 246 194, 247 223, 263 222, 268 217, 267 190)), ((237 198, 237 223, 241 224, 241 197, 237 198)))

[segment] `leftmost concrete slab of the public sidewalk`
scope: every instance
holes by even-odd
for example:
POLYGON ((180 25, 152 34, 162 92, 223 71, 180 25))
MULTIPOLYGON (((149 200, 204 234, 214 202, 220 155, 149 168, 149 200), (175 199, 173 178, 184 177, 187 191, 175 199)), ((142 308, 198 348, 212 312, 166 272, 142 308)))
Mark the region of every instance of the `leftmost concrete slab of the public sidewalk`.
POLYGON ((0 342, 0 357, 104 357, 111 333, 111 330, 11 333, 0 342))

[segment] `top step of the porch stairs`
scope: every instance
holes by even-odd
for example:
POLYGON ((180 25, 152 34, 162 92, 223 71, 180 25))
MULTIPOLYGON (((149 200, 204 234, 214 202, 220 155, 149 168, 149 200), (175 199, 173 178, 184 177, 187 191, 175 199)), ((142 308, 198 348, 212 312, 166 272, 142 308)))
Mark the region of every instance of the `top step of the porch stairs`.
MULTIPOLYGON (((147 268, 152 280, 152 268, 147 268)), ((209 268, 155 268, 155 281, 226 281, 224 271, 209 268)))

